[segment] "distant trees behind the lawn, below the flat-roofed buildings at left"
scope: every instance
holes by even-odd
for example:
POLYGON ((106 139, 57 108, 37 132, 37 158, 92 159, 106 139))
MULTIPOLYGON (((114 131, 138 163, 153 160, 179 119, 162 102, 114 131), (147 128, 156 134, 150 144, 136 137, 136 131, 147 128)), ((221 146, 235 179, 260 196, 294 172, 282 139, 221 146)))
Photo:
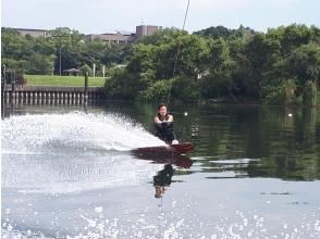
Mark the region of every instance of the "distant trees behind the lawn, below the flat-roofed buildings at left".
POLYGON ((127 46, 86 40, 86 36, 67 27, 50 30, 46 37, 22 36, 12 28, 1 28, 1 60, 9 68, 25 74, 59 75, 61 68, 93 70, 101 75, 102 66, 122 64, 127 46))

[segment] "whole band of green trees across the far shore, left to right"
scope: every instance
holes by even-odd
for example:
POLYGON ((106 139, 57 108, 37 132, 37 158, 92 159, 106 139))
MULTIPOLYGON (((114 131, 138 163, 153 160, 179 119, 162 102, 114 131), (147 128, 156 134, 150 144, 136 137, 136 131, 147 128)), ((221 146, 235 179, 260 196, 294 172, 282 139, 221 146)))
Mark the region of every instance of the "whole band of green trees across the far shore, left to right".
POLYGON ((253 100, 271 104, 317 104, 320 29, 293 24, 267 33, 241 26, 210 27, 193 34, 159 30, 132 45, 86 41, 69 28, 32 38, 2 28, 2 62, 29 74, 57 74, 64 66, 113 67, 106 80, 111 99, 169 101, 253 100))

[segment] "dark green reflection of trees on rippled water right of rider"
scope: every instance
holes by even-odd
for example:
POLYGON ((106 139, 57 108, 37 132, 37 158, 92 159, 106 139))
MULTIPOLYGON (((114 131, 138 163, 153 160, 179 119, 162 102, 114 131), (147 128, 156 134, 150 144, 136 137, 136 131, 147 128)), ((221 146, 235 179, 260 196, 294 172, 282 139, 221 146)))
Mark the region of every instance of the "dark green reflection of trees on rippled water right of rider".
POLYGON ((234 171, 248 177, 320 178, 320 112, 260 106, 192 108, 179 133, 196 144, 205 171, 234 171), (292 114, 292 116, 290 116, 292 114), (190 127, 188 127, 190 126, 190 127), (243 159, 249 159, 243 164, 243 159), (219 163, 229 161, 229 163, 219 163), (214 163, 214 161, 218 161, 214 163), (235 164, 231 164, 235 162, 235 164))

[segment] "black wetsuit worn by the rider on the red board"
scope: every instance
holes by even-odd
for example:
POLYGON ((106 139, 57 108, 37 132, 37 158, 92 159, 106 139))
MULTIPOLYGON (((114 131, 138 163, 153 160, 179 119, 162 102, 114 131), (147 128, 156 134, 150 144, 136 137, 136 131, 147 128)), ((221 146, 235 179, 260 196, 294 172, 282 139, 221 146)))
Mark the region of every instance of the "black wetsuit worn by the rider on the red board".
POLYGON ((156 124, 156 136, 163 140, 165 143, 171 143, 173 140, 176 139, 174 130, 173 130, 173 122, 164 122, 164 120, 169 118, 167 114, 164 118, 161 120, 161 116, 158 114, 158 118, 161 123, 156 124))

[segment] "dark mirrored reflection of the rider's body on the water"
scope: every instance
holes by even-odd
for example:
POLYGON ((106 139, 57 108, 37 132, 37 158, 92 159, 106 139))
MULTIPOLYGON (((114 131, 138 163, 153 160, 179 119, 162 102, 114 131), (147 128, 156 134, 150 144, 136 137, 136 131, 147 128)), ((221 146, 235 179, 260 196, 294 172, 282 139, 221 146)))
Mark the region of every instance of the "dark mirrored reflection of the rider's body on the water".
POLYGON ((153 186, 156 188, 156 198, 162 198, 165 187, 170 187, 171 178, 173 176, 174 169, 171 164, 165 164, 162 171, 159 171, 156 176, 153 176, 153 186))

